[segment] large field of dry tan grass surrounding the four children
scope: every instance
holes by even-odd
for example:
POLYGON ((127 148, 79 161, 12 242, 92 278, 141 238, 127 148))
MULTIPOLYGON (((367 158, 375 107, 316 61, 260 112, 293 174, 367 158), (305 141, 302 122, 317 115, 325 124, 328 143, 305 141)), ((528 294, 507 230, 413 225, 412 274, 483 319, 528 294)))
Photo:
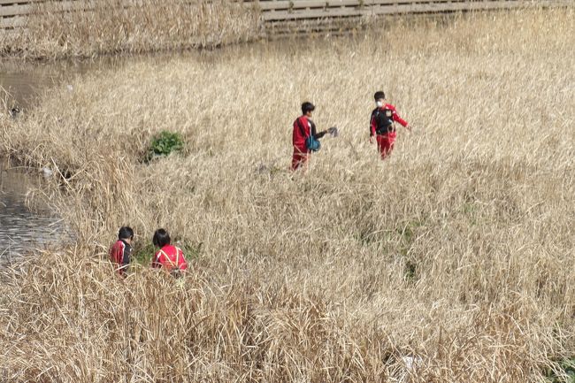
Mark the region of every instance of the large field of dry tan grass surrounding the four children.
POLYGON ((399 25, 50 90, 1 122, 0 153, 68 173, 45 193, 77 238, 2 287, 4 375, 543 381, 575 354, 574 19, 399 25), (414 126, 385 162, 367 143, 379 88, 414 126), (293 174, 305 100, 341 137, 293 174), (186 156, 142 164, 161 129, 186 156), (125 224, 138 246, 165 226, 201 249, 184 287, 114 277, 105 252, 125 224))

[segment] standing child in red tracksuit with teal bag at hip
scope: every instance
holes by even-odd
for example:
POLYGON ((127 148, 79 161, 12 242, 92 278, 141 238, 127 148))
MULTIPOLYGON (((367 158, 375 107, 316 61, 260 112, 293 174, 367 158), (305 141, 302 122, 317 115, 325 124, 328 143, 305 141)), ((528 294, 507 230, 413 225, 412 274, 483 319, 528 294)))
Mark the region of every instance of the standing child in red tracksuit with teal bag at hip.
POLYGON ((329 134, 337 134, 337 128, 330 127, 328 130, 319 132, 316 129, 316 124, 311 120, 311 114, 315 111, 316 107, 313 103, 302 103, 302 116, 294 121, 294 131, 292 134, 292 142, 294 145, 294 155, 292 156, 291 169, 296 170, 304 165, 310 157, 310 149, 308 149, 305 141, 308 137, 313 136, 316 140, 329 134))

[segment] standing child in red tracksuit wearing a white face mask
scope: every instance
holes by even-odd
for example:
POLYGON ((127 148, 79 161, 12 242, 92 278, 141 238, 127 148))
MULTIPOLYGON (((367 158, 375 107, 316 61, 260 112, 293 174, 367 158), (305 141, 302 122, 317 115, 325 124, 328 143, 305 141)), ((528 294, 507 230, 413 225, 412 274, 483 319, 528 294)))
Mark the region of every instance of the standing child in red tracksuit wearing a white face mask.
POLYGON ((385 103, 385 93, 382 91, 375 92, 374 98, 377 108, 372 111, 372 119, 370 120, 370 143, 373 142, 375 135, 381 159, 385 159, 394 149, 395 137, 397 136, 394 122, 399 122, 408 130, 411 128, 407 121, 399 117, 394 105, 385 103))

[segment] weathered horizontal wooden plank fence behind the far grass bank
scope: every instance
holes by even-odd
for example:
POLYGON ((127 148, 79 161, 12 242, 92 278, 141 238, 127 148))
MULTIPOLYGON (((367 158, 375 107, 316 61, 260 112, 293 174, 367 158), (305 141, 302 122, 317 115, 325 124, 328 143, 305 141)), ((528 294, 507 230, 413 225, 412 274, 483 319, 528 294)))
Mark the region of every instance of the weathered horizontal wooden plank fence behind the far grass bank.
MULTIPOLYGON (((26 25, 34 3, 46 0, 0 0, 0 28, 26 25)), ((145 1, 145 0, 144 0, 145 1)), ((257 4, 265 23, 305 19, 341 19, 400 13, 478 11, 528 6, 573 5, 575 0, 230 0, 257 4)), ((126 0, 126 4, 137 3, 126 0)), ((87 8, 83 0, 65 0, 63 9, 87 8)), ((88 7, 89 8, 89 7, 88 7)))

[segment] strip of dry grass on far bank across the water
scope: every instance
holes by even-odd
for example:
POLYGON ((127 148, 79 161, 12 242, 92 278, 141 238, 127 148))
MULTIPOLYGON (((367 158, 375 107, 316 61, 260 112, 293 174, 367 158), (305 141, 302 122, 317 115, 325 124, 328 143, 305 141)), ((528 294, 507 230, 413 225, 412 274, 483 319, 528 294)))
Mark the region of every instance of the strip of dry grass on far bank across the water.
POLYGON ((86 0, 35 4, 0 53, 31 58, 214 48, 260 34, 257 7, 226 0, 86 0))

